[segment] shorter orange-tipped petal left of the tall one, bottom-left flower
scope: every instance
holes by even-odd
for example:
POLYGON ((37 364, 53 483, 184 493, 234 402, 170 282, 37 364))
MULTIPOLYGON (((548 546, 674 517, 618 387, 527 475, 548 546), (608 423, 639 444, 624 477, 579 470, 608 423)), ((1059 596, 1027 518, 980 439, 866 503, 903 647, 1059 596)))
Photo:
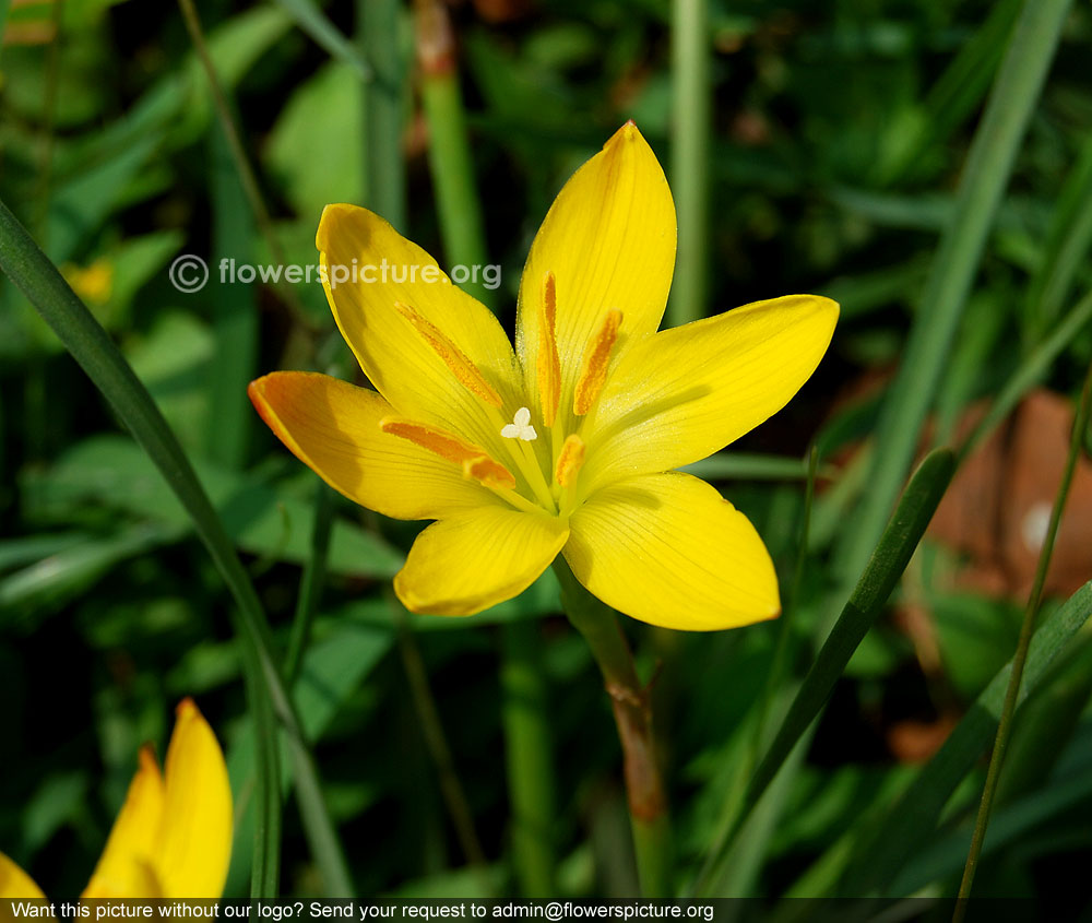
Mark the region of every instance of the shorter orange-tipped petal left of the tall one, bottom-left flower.
POLYGON ((124 804, 83 897, 162 897, 150 868, 162 821, 163 777, 152 748, 143 746, 124 804))

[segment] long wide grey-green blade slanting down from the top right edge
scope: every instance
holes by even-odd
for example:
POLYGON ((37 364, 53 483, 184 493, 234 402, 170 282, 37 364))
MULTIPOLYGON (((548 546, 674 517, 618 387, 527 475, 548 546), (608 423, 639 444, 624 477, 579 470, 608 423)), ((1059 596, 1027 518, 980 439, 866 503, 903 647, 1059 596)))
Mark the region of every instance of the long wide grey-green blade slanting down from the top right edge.
POLYGON ((835 575, 843 585, 875 547, 913 459, 1069 5, 1070 0, 1029 0, 1009 42, 963 168, 954 218, 941 237, 880 415, 868 493, 854 528, 843 531, 835 549, 835 575))

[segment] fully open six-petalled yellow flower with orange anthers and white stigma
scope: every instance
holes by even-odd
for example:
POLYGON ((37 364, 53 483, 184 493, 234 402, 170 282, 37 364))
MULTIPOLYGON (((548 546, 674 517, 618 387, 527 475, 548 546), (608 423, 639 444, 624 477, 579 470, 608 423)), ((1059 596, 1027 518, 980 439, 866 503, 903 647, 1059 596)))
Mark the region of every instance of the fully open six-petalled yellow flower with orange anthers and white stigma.
POLYGON ((826 352, 838 305, 792 295, 656 332, 675 239, 663 170, 627 123, 546 215, 513 352, 492 313, 387 222, 325 209, 327 297, 378 393, 274 372, 250 398, 349 499, 439 520, 394 579, 410 610, 471 615, 561 553, 592 593, 653 625, 716 629, 779 613, 753 526, 672 469, 783 407, 826 352))

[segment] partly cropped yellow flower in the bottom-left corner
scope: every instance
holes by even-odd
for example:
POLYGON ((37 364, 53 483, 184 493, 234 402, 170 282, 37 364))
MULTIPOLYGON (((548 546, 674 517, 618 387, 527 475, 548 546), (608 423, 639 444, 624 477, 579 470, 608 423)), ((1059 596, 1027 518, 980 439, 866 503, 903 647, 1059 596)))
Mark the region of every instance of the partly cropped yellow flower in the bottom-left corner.
MULTIPOLYGON (((224 754, 198 707, 178 706, 161 774, 141 747, 106 849, 85 898, 218 898, 232 859, 232 789, 224 754)), ((41 898, 41 890, 0 853, 0 898, 41 898)))

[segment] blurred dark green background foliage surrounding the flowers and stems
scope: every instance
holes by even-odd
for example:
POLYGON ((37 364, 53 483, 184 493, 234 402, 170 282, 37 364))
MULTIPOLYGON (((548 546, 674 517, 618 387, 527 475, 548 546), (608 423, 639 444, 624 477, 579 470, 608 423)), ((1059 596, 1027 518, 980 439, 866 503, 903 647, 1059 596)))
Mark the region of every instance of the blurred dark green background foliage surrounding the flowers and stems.
MULTIPOLYGON (((365 151, 376 140, 365 138, 366 87, 347 52, 331 57, 300 32, 292 5, 210 0, 200 10, 278 246, 289 262, 307 263, 324 204, 371 200, 365 151)), ((853 529, 848 511, 864 487, 854 452, 875 423, 876 388, 900 358, 1020 5, 712 4, 709 312, 792 292, 830 295, 843 309, 812 380, 734 447, 750 466, 733 466, 731 454, 705 463, 756 522, 786 585, 804 505, 795 460, 816 437, 823 462, 838 462, 821 472, 812 510, 788 638, 793 683, 821 640, 831 542, 853 529)), ((274 368, 348 375, 340 339, 317 285, 286 298, 278 287, 216 283, 221 259, 269 262, 272 251, 239 191, 174 4, 67 0, 59 23, 52 9, 19 8, 7 24, 0 198, 154 395, 285 643, 310 553, 314 477, 256 425, 244 386, 274 368), (56 38, 41 42, 50 26, 56 38), (213 284, 195 294, 171 287, 167 268, 182 253, 205 258, 213 284)), ((324 12, 353 35, 352 3, 334 0, 324 12)), ((669 9, 660 0, 482 0, 452 13, 490 259, 503 268, 496 301, 510 327, 522 261, 569 173, 627 118, 667 163, 669 9)), ((412 83, 408 9, 401 25, 412 83)), ((937 407, 948 423, 998 392, 1092 277, 1090 39, 1092 12, 1076 4, 947 366, 937 407)), ((406 159, 402 229, 442 264, 427 126, 412 86, 405 107, 404 137, 385 140, 406 159)), ((1046 383, 1071 392, 1090 358, 1085 329, 1065 344, 1046 383)), ((0 848, 47 890, 78 892, 138 745, 162 746, 174 703, 192 695, 229 754, 240 825, 228 892, 245 894, 253 729, 224 616, 230 600, 151 462, 7 280, 0 382, 0 848)), ((418 529, 339 498, 329 579, 296 684, 358 892, 512 891, 498 626, 527 619, 548 688, 558 889, 633 894, 607 700, 589 652, 558 615, 554 578, 472 619, 400 622, 384 588, 418 529), (452 829, 403 666, 407 651, 424 660, 486 869, 467 866, 452 829)), ((858 873, 879 874, 860 871, 868 838, 898 809, 916 769, 893 741, 916 727, 926 739, 917 759, 931 755, 939 741, 929 744, 929 733, 990 695, 984 690, 1016 644, 1022 600, 958 588, 954 568, 950 549, 922 548, 839 679, 807 752, 791 759, 755 816, 725 885, 733 894, 832 894, 858 873), (895 616, 911 607, 928 613, 937 658, 895 616)), ((1051 625, 1066 612, 1053 606, 1051 625)), ((1071 894, 1092 855, 1089 636, 1072 619, 1066 625, 1065 638, 1076 640, 1043 667, 1025 711, 1035 720, 1018 729, 980 871, 983 894, 1071 894)), ((626 628, 642 675, 657 677, 682 886, 740 782, 775 627, 708 637, 626 628)), ((779 719, 794 688, 774 696, 779 719)), ((939 825, 921 831, 898 875, 882 869, 892 873, 891 892, 951 892, 988 736, 965 752, 962 772, 930 790, 953 794, 940 798, 939 825)), ((282 889, 319 889, 294 807, 282 889)))

